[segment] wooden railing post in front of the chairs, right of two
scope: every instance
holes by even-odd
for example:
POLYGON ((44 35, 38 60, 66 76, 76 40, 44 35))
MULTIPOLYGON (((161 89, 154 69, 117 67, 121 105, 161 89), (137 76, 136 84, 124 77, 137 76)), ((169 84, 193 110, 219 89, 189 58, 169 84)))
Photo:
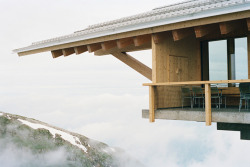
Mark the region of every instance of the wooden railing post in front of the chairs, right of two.
POLYGON ((206 126, 210 126, 212 124, 210 84, 205 84, 205 113, 206 113, 206 126))

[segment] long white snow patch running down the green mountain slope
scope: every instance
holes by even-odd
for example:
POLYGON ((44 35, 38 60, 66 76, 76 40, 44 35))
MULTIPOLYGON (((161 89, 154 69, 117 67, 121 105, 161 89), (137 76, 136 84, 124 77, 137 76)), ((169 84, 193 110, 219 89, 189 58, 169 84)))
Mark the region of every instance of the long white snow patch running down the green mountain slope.
POLYGON ((41 125, 41 124, 37 124, 37 123, 31 123, 31 122, 28 122, 28 121, 22 120, 22 119, 17 119, 17 120, 22 122, 23 124, 33 128, 33 129, 47 129, 53 135, 54 138, 55 138, 56 134, 58 134, 64 140, 70 142, 72 145, 75 145, 75 146, 79 147, 85 153, 88 153, 87 148, 82 145, 80 139, 78 137, 76 137, 76 136, 73 136, 73 135, 68 134, 66 132, 63 132, 61 130, 57 130, 57 129, 54 129, 54 128, 51 128, 51 127, 48 127, 48 126, 45 126, 45 125, 41 125))

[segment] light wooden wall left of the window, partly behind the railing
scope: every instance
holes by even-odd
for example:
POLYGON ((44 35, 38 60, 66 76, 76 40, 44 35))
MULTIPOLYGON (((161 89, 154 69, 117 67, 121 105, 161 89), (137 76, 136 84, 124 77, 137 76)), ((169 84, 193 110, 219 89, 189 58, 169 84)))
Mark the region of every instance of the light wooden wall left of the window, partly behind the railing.
MULTIPOLYGON (((152 40, 152 81, 178 82, 201 80, 200 42, 195 35, 174 41, 172 33, 161 34, 162 40, 152 40)), ((180 107, 180 87, 157 87, 157 108, 180 107)))

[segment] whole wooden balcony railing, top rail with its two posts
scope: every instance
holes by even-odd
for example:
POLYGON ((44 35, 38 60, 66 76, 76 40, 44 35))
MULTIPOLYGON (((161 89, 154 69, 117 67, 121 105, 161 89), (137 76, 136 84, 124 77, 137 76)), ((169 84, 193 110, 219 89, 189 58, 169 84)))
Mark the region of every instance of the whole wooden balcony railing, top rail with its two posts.
POLYGON ((188 86, 188 85, 205 85, 205 117, 206 125, 212 123, 211 113, 211 84, 230 84, 230 83, 250 83, 250 79, 242 80, 218 80, 218 81, 186 81, 186 82, 164 82, 164 83, 144 83, 143 86, 149 86, 149 121, 155 121, 155 94, 157 86, 188 86))

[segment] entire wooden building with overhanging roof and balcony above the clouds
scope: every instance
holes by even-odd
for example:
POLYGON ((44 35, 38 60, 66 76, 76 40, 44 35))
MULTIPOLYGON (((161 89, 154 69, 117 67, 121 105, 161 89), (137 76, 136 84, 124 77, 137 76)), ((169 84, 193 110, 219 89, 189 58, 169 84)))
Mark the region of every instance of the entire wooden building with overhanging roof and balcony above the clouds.
MULTIPOLYGON (((250 0, 185 1, 14 51, 19 56, 51 51, 53 58, 87 51, 113 55, 152 81, 144 84, 149 86, 150 108, 143 110, 143 117, 150 122, 218 122, 218 129, 250 124, 250 112, 239 112, 238 107, 238 85, 250 83, 250 0), (152 69, 127 53, 146 49, 152 50, 152 69), (220 108, 213 105, 211 86, 215 85, 222 92, 220 108), (182 88, 194 86, 204 91, 204 98, 198 99, 204 100, 204 109, 195 106, 194 100, 182 101, 182 88)), ((243 136, 242 128, 250 130, 241 127, 243 136)))

